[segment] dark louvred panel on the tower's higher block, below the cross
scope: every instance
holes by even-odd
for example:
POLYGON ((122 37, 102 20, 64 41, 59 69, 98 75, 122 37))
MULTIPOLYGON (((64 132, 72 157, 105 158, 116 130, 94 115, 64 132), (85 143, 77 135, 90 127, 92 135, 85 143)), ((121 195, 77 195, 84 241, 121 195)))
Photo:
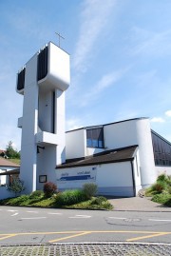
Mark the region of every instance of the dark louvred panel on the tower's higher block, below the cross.
POLYGON ((37 81, 47 76, 48 47, 39 52, 37 60, 37 81))

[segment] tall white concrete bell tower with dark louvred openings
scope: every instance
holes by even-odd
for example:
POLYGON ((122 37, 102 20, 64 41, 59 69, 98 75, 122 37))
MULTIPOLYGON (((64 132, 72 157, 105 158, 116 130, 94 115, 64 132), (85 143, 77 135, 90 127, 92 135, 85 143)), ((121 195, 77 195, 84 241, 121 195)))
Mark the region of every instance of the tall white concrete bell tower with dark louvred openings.
POLYGON ((17 74, 24 96, 20 178, 26 192, 56 184, 55 167, 66 160, 65 91, 70 83, 69 55, 49 42, 17 74))

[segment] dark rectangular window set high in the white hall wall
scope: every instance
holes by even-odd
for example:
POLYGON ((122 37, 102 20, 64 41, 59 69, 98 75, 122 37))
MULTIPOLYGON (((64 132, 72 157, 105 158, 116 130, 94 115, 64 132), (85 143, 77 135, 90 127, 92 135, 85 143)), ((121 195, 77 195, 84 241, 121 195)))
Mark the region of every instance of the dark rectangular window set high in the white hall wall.
POLYGON ((104 148, 104 128, 86 129, 86 147, 104 148))

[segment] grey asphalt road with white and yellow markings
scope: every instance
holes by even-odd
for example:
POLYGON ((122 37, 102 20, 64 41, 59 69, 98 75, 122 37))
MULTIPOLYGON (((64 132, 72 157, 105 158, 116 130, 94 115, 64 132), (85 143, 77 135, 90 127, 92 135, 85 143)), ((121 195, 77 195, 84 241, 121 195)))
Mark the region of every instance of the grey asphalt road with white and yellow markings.
POLYGON ((0 245, 170 241, 170 212, 0 207, 0 245))

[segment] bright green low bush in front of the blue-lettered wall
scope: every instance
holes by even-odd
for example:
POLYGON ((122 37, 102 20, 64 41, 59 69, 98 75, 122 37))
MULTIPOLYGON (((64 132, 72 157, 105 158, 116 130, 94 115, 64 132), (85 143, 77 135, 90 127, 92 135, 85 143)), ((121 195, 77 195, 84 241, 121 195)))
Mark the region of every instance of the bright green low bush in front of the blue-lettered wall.
POLYGON ((56 196, 56 204, 58 206, 71 206, 83 201, 85 201, 85 193, 79 189, 66 190, 56 196))

